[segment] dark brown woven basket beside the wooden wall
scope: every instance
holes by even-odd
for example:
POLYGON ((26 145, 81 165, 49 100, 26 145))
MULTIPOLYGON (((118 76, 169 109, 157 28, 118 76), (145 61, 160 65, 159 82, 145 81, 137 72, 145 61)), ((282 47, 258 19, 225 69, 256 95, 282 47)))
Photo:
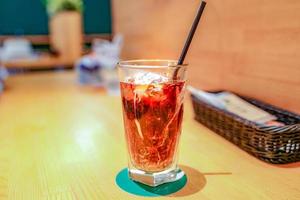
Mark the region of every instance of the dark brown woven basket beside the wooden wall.
POLYGON ((273 164, 300 161, 300 116, 252 98, 238 96, 275 115, 277 121, 286 125, 258 125, 191 95, 195 119, 260 160, 273 164))

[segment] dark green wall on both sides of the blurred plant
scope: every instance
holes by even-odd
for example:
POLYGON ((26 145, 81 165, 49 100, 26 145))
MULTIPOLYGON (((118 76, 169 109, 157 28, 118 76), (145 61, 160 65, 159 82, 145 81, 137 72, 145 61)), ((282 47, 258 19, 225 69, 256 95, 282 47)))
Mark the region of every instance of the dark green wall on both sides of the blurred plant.
MULTIPOLYGON (((84 0, 86 34, 111 33, 109 0, 84 0)), ((48 16, 42 0, 0 0, 0 35, 48 33, 48 16)))

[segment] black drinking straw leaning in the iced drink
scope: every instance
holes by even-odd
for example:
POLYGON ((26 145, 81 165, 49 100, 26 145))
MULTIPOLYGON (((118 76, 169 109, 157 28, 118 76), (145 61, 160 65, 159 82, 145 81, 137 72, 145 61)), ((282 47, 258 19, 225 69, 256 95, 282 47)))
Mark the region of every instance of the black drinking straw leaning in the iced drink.
MULTIPOLYGON (((188 37, 187 37, 187 39, 186 39, 186 41, 185 41, 184 47, 183 47, 183 49, 182 49, 180 58, 179 58, 178 63, 177 63, 178 65, 182 65, 183 62, 184 62, 185 56, 186 56, 186 54, 187 54, 187 52, 188 52, 188 50, 189 50, 189 47, 190 47, 190 45, 191 45, 192 39, 193 39, 194 34, 195 34, 195 32, 196 32, 196 29, 197 29, 197 27, 198 27, 198 24, 199 24, 200 18, 201 18, 201 16, 202 16, 202 13, 203 13, 203 11, 204 11, 205 5, 206 5, 206 2, 205 2, 205 1, 202 1, 202 2, 201 2, 201 5, 200 5, 200 7, 199 7, 199 9, 198 9, 197 15, 196 15, 196 17, 195 17, 195 19, 194 19, 194 22, 193 22, 193 25, 192 25, 192 27, 191 27, 191 30, 190 30, 190 32, 189 32, 189 35, 188 35, 188 37)), ((179 69, 179 68, 177 68, 177 69, 175 70, 173 79, 176 79, 176 78, 177 78, 178 69, 179 69)))

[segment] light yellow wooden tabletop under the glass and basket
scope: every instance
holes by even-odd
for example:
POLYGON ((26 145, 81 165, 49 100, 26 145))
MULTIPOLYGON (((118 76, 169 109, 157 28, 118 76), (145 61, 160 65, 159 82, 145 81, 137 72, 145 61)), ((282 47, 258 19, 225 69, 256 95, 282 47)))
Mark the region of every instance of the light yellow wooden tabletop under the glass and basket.
MULTIPOLYGON (((141 199, 119 189, 127 165, 121 103, 69 72, 10 77, 0 97, 0 199, 141 199)), ((193 120, 186 101, 182 199, 300 199, 300 163, 270 165, 193 120)), ((162 197, 168 198, 168 197, 162 197)))

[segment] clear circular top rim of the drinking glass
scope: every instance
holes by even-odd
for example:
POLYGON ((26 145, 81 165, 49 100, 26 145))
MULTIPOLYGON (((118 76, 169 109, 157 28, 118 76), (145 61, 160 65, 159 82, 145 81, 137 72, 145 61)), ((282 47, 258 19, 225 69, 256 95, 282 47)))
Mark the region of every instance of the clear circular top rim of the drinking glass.
POLYGON ((117 66, 120 68, 144 68, 144 69, 165 69, 165 68, 182 68, 186 67, 187 64, 178 65, 177 60, 168 60, 168 59, 135 59, 135 60, 121 60, 117 63, 117 66), (147 64, 149 63, 149 64, 147 64), (157 65, 153 64, 157 63, 157 65), (159 64, 160 63, 160 64, 159 64), (166 64, 162 64, 166 63, 166 64))

